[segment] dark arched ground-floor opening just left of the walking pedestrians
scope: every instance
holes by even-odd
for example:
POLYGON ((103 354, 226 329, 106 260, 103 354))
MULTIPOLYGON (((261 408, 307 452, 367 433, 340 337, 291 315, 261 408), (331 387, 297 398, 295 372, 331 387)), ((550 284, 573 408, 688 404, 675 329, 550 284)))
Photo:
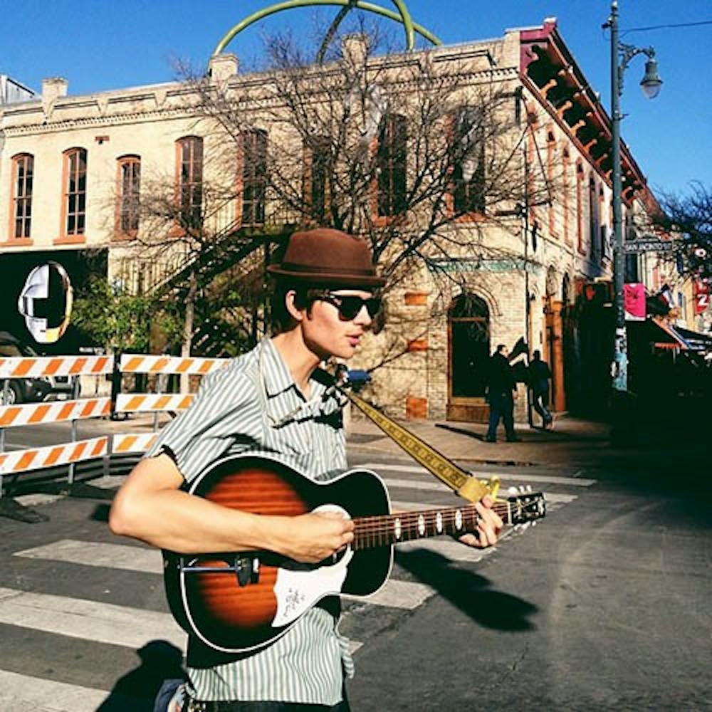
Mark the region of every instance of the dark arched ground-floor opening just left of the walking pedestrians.
POLYGON ((489 309, 476 294, 459 295, 448 312, 451 396, 483 398, 490 355, 489 309))

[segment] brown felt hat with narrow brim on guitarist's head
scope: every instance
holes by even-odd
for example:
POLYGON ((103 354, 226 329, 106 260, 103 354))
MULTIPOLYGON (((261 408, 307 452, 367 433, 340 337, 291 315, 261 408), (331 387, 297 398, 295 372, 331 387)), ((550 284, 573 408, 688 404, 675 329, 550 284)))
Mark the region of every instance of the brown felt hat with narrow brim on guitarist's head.
POLYGON ((377 276, 365 241, 328 228, 295 232, 281 263, 268 266, 267 271, 318 286, 382 287, 386 283, 377 276))

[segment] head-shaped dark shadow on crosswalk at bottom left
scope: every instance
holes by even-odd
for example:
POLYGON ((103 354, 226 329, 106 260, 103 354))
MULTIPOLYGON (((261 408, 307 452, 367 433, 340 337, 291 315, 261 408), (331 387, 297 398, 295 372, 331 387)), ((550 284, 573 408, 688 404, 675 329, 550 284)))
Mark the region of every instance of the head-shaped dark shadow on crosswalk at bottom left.
POLYGON ((118 679, 97 712, 152 712, 167 679, 185 679, 183 654, 165 640, 152 640, 136 651, 140 665, 118 679))

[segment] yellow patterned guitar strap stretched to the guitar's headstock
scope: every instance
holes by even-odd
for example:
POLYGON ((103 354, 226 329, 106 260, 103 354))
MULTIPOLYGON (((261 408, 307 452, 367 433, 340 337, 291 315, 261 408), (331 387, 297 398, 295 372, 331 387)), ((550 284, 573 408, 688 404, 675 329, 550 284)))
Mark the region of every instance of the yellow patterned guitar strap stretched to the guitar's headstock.
POLYGON ((434 474, 439 480, 449 486, 459 496, 471 502, 480 501, 486 494, 497 496, 498 479, 490 484, 478 480, 470 473, 459 468, 453 461, 446 458, 434 447, 427 444, 417 435, 397 424, 382 414, 350 390, 340 389, 348 399, 368 418, 370 418, 387 436, 399 444, 410 456, 434 474))

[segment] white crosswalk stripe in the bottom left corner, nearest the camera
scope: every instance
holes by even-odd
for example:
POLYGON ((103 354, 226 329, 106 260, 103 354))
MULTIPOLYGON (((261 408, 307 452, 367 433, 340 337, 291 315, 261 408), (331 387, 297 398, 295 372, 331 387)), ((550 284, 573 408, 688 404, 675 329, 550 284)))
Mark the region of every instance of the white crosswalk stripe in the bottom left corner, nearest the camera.
POLYGON ((95 712, 108 696, 105 690, 0 670, 0 706, 4 710, 95 712))

